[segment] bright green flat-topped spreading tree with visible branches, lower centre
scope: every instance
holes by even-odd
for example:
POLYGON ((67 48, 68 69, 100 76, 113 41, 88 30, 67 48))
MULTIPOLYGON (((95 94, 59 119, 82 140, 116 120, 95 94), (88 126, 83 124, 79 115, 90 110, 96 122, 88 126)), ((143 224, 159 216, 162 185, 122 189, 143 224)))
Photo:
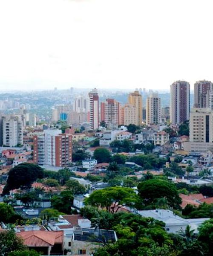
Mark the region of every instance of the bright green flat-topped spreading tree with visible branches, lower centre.
POLYGON ((109 187, 92 192, 85 204, 106 208, 108 212, 118 212, 122 206, 132 207, 138 197, 133 189, 122 187, 109 187))

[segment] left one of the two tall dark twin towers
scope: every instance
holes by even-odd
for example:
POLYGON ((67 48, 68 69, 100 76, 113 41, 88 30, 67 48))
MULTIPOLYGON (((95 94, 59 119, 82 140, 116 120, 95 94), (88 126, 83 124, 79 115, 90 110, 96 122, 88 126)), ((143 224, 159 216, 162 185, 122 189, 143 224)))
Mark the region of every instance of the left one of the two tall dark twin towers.
POLYGON ((170 120, 172 124, 179 124, 189 120, 190 112, 190 84, 186 81, 176 81, 170 87, 171 107, 170 120))

